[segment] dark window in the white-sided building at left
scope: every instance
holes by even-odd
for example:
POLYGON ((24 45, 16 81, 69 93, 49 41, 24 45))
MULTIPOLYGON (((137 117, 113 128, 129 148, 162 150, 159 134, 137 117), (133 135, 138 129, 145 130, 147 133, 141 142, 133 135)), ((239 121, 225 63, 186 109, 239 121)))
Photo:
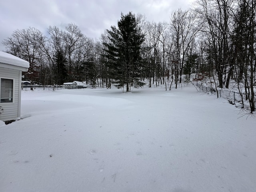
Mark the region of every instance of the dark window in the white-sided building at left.
POLYGON ((0 103, 14 102, 14 80, 1 78, 0 103))

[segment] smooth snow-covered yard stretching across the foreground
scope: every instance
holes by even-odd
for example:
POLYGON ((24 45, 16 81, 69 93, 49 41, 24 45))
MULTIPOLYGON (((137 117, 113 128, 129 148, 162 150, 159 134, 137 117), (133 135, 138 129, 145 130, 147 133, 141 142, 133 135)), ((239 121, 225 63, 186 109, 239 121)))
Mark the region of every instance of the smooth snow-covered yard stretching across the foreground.
POLYGON ((256 190, 256 119, 194 87, 35 90, 21 107, 0 127, 1 192, 256 190))

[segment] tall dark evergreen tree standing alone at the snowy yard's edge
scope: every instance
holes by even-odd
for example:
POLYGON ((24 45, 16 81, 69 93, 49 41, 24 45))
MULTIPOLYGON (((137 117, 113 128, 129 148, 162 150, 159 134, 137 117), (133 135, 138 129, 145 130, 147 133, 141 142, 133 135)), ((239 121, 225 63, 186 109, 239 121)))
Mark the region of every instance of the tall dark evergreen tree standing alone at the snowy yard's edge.
POLYGON ((142 66, 141 47, 144 34, 138 25, 138 20, 132 12, 121 14, 118 28, 111 26, 107 30, 109 42, 104 42, 109 68, 114 71, 113 79, 118 88, 126 86, 126 92, 131 87, 140 87, 140 69, 142 66))

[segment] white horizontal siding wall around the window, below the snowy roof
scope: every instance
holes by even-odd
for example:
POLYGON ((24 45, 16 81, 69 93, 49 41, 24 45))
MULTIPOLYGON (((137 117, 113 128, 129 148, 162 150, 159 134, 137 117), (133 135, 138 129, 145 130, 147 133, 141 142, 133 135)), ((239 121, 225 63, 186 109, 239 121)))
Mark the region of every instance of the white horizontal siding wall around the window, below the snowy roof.
MULTIPOLYGON (((1 65, 1 64, 0 64, 1 65)), ((14 103, 0 103, 0 106, 4 109, 2 114, 0 114, 0 120, 14 120, 20 117, 20 80, 21 71, 11 70, 0 67, 0 78, 11 78, 14 79, 14 103)))

